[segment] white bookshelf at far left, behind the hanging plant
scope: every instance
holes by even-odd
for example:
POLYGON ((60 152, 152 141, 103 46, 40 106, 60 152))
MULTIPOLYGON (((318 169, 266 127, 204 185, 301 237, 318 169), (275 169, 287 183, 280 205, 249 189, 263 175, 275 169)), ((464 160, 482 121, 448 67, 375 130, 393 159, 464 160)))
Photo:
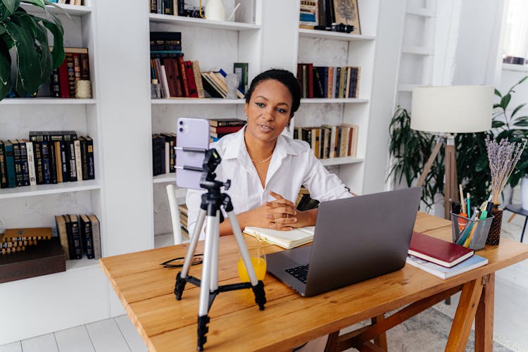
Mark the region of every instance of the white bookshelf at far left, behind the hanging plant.
MULTIPOLYGON (((61 4, 60 9, 46 9, 63 23, 64 46, 88 48, 93 98, 46 97, 49 87, 44 84, 37 98, 4 99, 0 101, 0 139, 27 139, 30 130, 75 130, 78 136, 89 135, 94 139, 95 180, 0 189, 0 218, 8 228, 55 227, 54 215, 94 213, 101 222, 105 253, 96 9, 94 0, 85 3, 87 6, 61 4)), ((24 8, 45 15, 34 6, 24 8)), ((109 317, 108 283, 97 261, 68 260, 66 268, 65 272, 1 284, 3 299, 24 303, 4 307, 0 345, 109 317), (57 314, 57 310, 65 313, 57 314)))

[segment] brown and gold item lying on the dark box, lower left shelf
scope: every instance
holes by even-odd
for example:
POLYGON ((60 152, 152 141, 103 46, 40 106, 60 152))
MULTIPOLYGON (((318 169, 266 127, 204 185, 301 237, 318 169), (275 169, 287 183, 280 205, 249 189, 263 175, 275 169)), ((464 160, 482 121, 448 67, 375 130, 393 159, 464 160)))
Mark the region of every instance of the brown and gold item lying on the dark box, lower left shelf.
POLYGON ((0 234, 0 253, 2 255, 25 251, 27 246, 36 246, 38 241, 51 239, 51 227, 31 229, 6 229, 0 234))

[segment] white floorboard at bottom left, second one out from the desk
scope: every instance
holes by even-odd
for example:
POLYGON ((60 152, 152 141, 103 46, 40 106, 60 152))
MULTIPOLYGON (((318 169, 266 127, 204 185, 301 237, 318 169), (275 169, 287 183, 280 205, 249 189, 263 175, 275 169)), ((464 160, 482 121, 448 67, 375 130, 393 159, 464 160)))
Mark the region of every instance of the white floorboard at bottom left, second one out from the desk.
MULTIPOLYGON (((130 352, 115 320, 105 319, 86 325, 92 344, 97 352, 130 352)), ((61 351, 62 352, 62 351, 61 351)))

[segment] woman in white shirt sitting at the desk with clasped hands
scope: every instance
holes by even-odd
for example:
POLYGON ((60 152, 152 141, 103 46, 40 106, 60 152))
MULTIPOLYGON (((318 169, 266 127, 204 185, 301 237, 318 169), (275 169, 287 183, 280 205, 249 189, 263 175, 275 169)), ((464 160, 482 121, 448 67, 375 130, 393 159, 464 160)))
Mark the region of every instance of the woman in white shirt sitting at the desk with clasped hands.
MULTIPOLYGON (((242 230, 256 226, 287 231, 315 225, 317 209, 299 211, 292 201, 301 185, 318 201, 352 196, 306 142, 282 135, 300 103, 301 89, 291 72, 272 69, 260 73, 246 92, 246 126, 210 145, 222 157, 216 180, 231 180, 225 193, 231 197, 242 230)), ((187 191, 189 234, 196 225, 202 193, 187 191)), ((220 224, 220 236, 227 234, 232 229, 226 218, 220 224)))

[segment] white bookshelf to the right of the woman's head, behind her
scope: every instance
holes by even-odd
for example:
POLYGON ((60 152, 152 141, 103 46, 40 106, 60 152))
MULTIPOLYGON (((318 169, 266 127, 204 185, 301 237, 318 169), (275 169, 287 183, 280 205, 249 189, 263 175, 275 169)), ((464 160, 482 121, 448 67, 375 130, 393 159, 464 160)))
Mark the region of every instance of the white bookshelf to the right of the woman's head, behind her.
POLYGON ((359 66, 358 99, 302 99, 295 127, 358 125, 357 155, 321 159, 355 193, 363 193, 364 159, 369 130, 370 94, 375 59, 379 1, 358 1, 360 34, 298 29, 296 63, 314 66, 359 66))

